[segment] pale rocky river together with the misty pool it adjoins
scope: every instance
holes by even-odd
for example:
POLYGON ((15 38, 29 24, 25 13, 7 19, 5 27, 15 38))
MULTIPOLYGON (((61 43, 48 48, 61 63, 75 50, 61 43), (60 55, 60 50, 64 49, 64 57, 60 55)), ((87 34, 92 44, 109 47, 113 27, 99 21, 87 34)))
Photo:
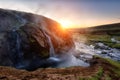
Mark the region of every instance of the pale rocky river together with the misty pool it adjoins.
POLYGON ((63 62, 57 67, 70 67, 70 66, 89 66, 86 61, 92 59, 93 55, 98 55, 104 58, 120 61, 120 49, 111 48, 103 43, 96 43, 96 45, 86 45, 82 41, 74 41, 75 49, 72 49, 60 57, 63 62), (98 46, 98 48, 95 48, 98 46))

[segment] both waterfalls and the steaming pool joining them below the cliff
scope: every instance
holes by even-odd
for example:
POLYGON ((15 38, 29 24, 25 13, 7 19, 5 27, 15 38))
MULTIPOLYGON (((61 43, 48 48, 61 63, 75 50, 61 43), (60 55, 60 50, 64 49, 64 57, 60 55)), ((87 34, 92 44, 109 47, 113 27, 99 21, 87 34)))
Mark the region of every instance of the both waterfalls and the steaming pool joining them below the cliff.
MULTIPOLYGON (((20 18, 20 17, 17 17, 20 18)), ((22 20, 20 18, 19 21, 23 21, 20 23, 23 23, 22 25, 24 25, 26 22, 25 20, 22 20)), ((61 54, 57 54, 55 53, 55 49, 51 40, 51 32, 48 32, 46 30, 46 22, 41 19, 41 26, 39 27, 42 31, 43 34, 45 35, 46 39, 47 39, 47 43, 49 45, 49 54, 50 57, 48 59, 41 59, 41 58, 36 58, 33 59, 31 61, 26 61, 23 57, 23 52, 21 49, 21 37, 19 32, 17 31, 20 26, 17 26, 16 28, 14 28, 12 30, 12 32, 10 32, 10 37, 9 37, 9 46, 10 49, 12 51, 12 54, 10 54, 10 59, 13 62, 13 66, 19 69, 35 69, 35 68, 39 68, 39 67, 70 67, 70 66, 89 66, 89 63, 84 62, 83 60, 81 60, 78 57, 75 57, 75 53, 76 53, 76 49, 71 49, 68 52, 64 52, 61 54), (50 34, 50 35, 49 35, 50 34)), ((62 52, 62 51, 61 51, 62 52)))

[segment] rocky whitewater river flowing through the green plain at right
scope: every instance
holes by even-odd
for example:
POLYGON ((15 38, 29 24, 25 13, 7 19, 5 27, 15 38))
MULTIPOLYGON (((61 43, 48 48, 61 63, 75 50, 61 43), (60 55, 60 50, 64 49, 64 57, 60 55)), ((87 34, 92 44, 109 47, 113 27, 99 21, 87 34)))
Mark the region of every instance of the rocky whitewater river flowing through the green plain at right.
POLYGON ((75 45, 81 57, 90 58, 92 55, 99 55, 104 58, 111 58, 120 61, 120 49, 111 48, 103 43, 96 43, 94 46, 86 45, 82 42, 75 42, 75 45))

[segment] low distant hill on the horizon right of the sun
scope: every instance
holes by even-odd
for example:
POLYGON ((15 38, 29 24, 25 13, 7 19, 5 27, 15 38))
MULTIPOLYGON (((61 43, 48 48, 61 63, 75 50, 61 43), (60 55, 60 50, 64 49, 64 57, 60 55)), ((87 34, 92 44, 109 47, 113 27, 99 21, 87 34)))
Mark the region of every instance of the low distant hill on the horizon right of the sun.
POLYGON ((113 33, 120 33, 120 23, 114 23, 114 24, 107 24, 107 25, 100 25, 95 27, 89 27, 89 28, 74 28, 69 29, 69 31, 73 33, 94 33, 94 34, 113 34, 113 33))

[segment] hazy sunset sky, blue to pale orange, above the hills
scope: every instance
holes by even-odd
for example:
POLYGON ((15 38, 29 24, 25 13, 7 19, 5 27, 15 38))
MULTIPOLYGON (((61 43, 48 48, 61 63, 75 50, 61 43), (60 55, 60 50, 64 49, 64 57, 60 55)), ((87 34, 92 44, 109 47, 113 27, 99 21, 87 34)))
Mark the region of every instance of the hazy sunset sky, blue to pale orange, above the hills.
POLYGON ((120 22, 120 0, 0 0, 0 8, 43 15, 68 28, 120 22))

